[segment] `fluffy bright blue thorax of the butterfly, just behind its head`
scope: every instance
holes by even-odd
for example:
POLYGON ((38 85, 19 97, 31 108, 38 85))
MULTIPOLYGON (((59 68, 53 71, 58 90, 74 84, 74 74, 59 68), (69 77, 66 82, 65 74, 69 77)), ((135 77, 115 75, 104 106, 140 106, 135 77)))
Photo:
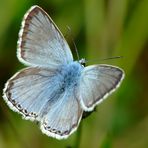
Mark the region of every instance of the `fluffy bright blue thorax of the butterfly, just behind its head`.
POLYGON ((78 62, 63 66, 59 71, 62 89, 73 90, 74 87, 79 85, 82 70, 83 66, 78 62))

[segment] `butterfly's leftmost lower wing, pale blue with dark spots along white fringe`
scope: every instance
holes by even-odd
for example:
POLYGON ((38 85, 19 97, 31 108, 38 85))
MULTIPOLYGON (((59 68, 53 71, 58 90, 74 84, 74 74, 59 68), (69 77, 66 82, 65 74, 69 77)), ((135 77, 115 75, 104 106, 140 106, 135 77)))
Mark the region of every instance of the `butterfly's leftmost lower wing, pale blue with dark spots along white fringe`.
POLYGON ((6 103, 12 110, 21 113, 25 119, 40 120, 42 109, 57 90, 54 76, 54 70, 40 68, 21 70, 5 85, 6 103))

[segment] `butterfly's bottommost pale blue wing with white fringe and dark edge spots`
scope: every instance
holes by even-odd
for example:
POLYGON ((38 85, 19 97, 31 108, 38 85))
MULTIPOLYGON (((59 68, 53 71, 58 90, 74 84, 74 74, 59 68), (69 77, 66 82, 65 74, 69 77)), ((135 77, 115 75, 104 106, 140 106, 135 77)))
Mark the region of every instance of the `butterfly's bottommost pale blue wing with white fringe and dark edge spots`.
POLYGON ((57 139, 67 138, 78 127, 82 117, 82 108, 75 94, 66 91, 62 99, 55 103, 41 122, 41 130, 57 139))

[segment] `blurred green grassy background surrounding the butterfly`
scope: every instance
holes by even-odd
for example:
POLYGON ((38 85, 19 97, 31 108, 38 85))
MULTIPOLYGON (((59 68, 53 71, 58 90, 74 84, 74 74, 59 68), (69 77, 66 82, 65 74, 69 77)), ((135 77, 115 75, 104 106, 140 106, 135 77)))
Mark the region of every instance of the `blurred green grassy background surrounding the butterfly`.
POLYGON ((0 0, 0 148, 148 147, 148 0, 0 0), (16 57, 18 31, 32 5, 41 6, 80 57, 125 70, 121 87, 81 122, 67 140, 43 135, 39 126, 11 111, 5 82, 23 68, 16 57), (70 26, 71 33, 67 27, 70 26), (122 59, 99 61, 124 56, 122 59))

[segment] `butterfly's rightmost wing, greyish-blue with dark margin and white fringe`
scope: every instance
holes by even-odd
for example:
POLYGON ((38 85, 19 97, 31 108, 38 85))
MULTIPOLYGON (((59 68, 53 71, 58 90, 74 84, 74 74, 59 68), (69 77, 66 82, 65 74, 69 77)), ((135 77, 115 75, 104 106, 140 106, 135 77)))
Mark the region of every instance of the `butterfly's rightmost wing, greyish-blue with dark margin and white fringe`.
POLYGON ((124 78, 124 72, 110 65, 92 65, 84 68, 79 95, 85 111, 91 111, 116 90, 124 78))

